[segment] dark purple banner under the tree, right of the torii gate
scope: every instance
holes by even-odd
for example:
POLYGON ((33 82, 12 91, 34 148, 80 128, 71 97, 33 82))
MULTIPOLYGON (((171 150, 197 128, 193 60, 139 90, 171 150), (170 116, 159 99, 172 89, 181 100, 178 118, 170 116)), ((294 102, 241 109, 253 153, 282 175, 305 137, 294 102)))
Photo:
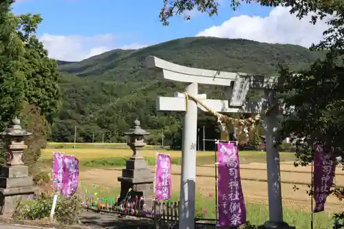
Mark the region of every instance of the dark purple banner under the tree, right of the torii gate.
POLYGON ((321 144, 315 146, 314 153, 314 200, 313 212, 322 212, 329 195, 336 171, 336 157, 333 153, 324 151, 321 144))

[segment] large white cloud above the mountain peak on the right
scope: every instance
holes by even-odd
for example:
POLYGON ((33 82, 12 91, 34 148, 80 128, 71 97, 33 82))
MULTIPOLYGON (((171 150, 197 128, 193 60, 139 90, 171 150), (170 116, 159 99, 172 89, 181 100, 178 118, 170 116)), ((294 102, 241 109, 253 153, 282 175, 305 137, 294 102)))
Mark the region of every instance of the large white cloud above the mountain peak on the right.
POLYGON ((327 28, 325 21, 316 25, 309 23, 310 17, 302 20, 290 14, 288 8, 277 7, 268 17, 232 17, 222 25, 207 28, 196 36, 215 36, 230 39, 249 39, 267 43, 289 43, 310 47, 323 38, 327 28))

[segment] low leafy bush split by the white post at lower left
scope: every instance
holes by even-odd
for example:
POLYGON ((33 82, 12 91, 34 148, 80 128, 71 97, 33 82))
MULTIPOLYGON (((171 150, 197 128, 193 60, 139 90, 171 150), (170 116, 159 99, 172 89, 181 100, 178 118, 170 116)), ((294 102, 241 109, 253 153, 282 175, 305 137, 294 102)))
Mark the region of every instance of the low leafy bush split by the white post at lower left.
MULTIPOLYGON (((52 199, 52 195, 41 193, 41 195, 33 201, 21 201, 19 202, 13 217, 19 220, 47 218, 50 216, 52 199)), ((58 223, 73 225, 78 222, 78 215, 80 215, 82 210, 82 201, 78 195, 74 195, 71 198, 58 195, 54 219, 58 221, 58 223)))

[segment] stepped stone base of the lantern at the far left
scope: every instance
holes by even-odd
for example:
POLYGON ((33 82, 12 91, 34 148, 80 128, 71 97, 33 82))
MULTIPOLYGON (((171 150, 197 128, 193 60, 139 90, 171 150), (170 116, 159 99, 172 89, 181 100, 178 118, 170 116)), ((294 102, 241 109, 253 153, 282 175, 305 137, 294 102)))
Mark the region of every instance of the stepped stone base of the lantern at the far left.
POLYGON ((3 166, 0 177, 0 214, 12 216, 19 201, 34 199, 33 185, 28 166, 3 166))

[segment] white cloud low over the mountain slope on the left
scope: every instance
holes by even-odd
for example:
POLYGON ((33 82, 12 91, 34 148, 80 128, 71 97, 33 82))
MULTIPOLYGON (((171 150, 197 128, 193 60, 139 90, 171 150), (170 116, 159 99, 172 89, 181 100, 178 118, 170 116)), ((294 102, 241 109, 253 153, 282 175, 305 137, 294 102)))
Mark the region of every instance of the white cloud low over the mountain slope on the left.
POLYGON ((116 45, 116 36, 112 34, 99 34, 96 36, 61 36, 43 34, 39 40, 49 52, 49 56, 60 61, 82 61, 85 58, 102 54, 109 50, 120 48, 122 50, 138 49, 147 45, 134 43, 132 45, 116 45))

